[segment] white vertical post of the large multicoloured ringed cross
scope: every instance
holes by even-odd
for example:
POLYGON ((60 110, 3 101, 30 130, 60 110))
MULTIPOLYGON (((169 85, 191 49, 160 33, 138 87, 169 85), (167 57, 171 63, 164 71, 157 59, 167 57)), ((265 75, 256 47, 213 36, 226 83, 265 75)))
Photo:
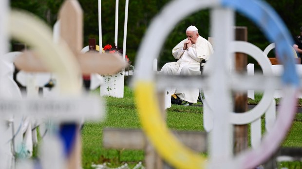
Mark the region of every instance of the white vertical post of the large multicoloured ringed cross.
MULTIPOLYGON (((214 58, 216 62, 209 62, 208 66, 212 67, 215 73, 209 75, 210 83, 213 84, 213 99, 221 103, 220 106, 211 107, 215 120, 213 130, 211 132, 210 144, 210 167, 215 168, 216 165, 226 163, 232 158, 232 128, 229 123, 229 114, 222 113, 230 111, 229 93, 227 88, 227 69, 229 66, 227 58, 230 58, 230 42, 234 37, 234 12, 231 9, 215 8, 211 10, 211 37, 220 37, 215 43, 214 58), (223 27, 221 25, 224 25, 223 27), (225 34, 227 32, 228 34, 225 34), (219 61, 219 62, 217 62, 219 61), (224 85, 221 85, 224 84, 224 85), (221 129, 224 129, 221 130, 221 129), (224 140, 224 141, 221 141, 224 140)), ((210 60, 211 61, 211 60, 210 60)))

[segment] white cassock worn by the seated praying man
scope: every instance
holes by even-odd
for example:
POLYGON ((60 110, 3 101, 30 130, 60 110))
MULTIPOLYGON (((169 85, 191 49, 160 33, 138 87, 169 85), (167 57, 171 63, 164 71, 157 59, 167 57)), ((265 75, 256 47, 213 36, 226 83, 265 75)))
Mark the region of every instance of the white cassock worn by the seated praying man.
MULTIPOLYGON (((200 62, 208 60, 214 52, 212 45, 207 39, 199 36, 195 44, 187 50, 183 50, 184 43, 188 39, 184 39, 177 44, 172 54, 177 62, 166 63, 160 71, 169 75, 200 75, 200 62)), ((170 93, 176 94, 180 99, 196 103, 199 95, 198 88, 174 88, 170 93)))

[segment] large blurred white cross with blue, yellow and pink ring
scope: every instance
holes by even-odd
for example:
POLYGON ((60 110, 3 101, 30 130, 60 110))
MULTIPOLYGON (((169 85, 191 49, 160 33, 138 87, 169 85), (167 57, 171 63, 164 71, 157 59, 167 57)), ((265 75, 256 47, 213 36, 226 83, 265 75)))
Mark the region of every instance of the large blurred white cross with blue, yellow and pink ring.
MULTIPOLYGON (((136 62, 140 65, 138 65, 136 79, 133 84, 135 86, 136 105, 144 131, 149 135, 156 150, 177 168, 255 168, 280 145, 294 117, 295 94, 298 93, 299 79, 296 69, 293 67, 293 53, 287 48, 287 45, 291 42, 290 35, 272 8, 260 0, 246 0, 244 2, 233 0, 191 0, 190 3, 194 5, 188 6, 184 6, 184 2, 185 0, 174 0, 162 10, 162 13, 151 23, 142 41, 140 51, 138 51, 137 61, 144 59, 144 63, 147 63, 140 64, 136 62), (213 99, 216 104, 219 103, 219 106, 215 104, 212 104, 215 106, 211 106, 214 112, 214 126, 210 134, 209 160, 206 160, 205 157, 189 152, 182 146, 168 132, 166 125, 160 119, 158 105, 151 103, 155 99, 155 87, 152 83, 155 81, 155 76, 150 63, 159 55, 164 39, 181 18, 208 7, 213 8, 211 10, 211 36, 214 38, 219 37, 219 40, 214 43, 214 59, 209 60, 207 63, 209 73, 206 75, 208 76, 202 76, 203 79, 200 79, 200 77, 174 76, 175 80, 172 80, 172 77, 169 76, 156 77, 157 89, 163 90, 167 86, 203 86, 205 91, 210 93, 208 100, 213 99), (182 8, 182 10, 177 10, 179 8, 182 8), (245 52, 247 48, 251 48, 244 42, 233 43, 234 9, 251 18, 264 30, 264 34, 270 41, 275 41, 279 45, 277 50, 284 63, 282 80, 277 77, 263 77, 263 75, 258 74, 254 77, 246 77, 229 73, 230 63, 228 58, 232 53, 245 52), (170 14, 174 15, 171 16, 170 14), (162 27, 162 23, 165 23, 165 27, 162 27), (271 29, 274 31, 271 31, 271 29), (154 44, 154 41, 158 43, 154 44), (151 44, 153 44, 152 48, 150 48, 151 44), (239 46, 240 48, 236 49, 239 46), (264 137, 259 147, 243 152, 238 156, 233 156, 232 124, 235 121, 240 121, 241 123, 250 122, 250 120, 259 118, 263 112, 256 112, 255 114, 251 114, 251 112, 242 114, 231 112, 229 105, 230 91, 246 91, 248 89, 269 91, 280 89, 281 87, 284 87, 286 96, 283 98, 283 106, 279 110, 279 117, 276 118, 273 129, 264 137), (161 139, 157 139, 158 137, 161 139)), ((273 93, 273 91, 270 92, 273 93)), ((270 102, 271 100, 269 100, 270 102)))

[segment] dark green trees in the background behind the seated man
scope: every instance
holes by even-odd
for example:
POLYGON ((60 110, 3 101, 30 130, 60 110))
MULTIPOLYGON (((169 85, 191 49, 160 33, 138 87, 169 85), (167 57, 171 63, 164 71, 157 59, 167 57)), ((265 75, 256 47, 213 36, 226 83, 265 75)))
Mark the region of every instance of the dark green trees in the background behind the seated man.
MULTIPOLYGON (((64 0, 11 0, 11 7, 29 11, 49 26, 53 27, 57 21, 59 7, 64 0)), ((152 19, 161 12, 163 7, 172 0, 129 0, 127 50, 126 54, 132 64, 140 42, 146 33, 152 19)), ((242 1, 244 2, 244 1, 242 1)), ((301 0, 266 0, 279 16, 283 19, 292 36, 300 34, 302 26, 301 0)), ((95 38, 98 42, 98 0, 79 0, 84 13, 84 42, 88 45, 89 38, 95 38)), ((186 5, 186 4, 184 4, 186 5)), ((114 23, 115 23, 115 0, 102 0, 102 44, 114 44, 114 23)), ((181 10, 181 9, 180 9, 181 10)), ((171 14, 172 16, 173 14, 171 14)), ((118 48, 123 44, 124 34, 125 1, 119 1, 118 19, 118 48)), ((159 68, 166 62, 174 61, 171 55, 172 48, 181 40, 186 38, 185 31, 190 25, 199 29, 201 36, 208 38, 210 31, 209 18, 210 10, 200 10, 185 17, 173 28, 167 36, 159 56, 159 68)), ((165 25, 162 25, 165 27, 165 25)), ((223 26, 223 25, 222 25, 223 26)), ((248 30, 248 42, 253 43, 264 50, 270 42, 264 37, 261 30, 248 18, 236 12, 236 25, 245 26, 248 30)), ((154 42, 158 43, 158 42, 154 42)), ((274 53, 270 53, 274 56, 274 53)), ((249 62, 254 62, 253 60, 249 62)))

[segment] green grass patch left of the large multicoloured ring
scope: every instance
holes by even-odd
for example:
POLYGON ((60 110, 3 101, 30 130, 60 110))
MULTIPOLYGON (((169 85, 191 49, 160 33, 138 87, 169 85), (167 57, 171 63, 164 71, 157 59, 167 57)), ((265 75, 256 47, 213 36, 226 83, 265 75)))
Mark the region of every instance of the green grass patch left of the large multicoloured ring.
MULTIPOLYGON (((99 95, 99 89, 92 94, 99 95)), ((87 122, 82 130, 82 166, 92 169, 91 165, 109 163, 109 167, 118 167, 125 162, 134 166, 144 160, 143 151, 106 150, 102 147, 104 127, 140 128, 140 122, 134 104, 132 92, 125 87, 124 98, 105 97, 107 115, 103 121, 87 122)))

